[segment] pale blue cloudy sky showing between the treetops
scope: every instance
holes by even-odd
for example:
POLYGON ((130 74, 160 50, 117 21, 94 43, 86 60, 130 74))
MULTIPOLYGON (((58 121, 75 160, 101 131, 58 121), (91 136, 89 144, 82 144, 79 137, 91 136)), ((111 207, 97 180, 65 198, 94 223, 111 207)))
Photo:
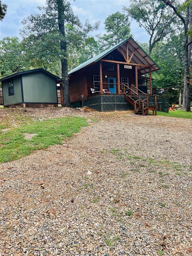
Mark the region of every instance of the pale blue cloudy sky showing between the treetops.
MULTIPOLYGON (((3 21, 0 22, 0 39, 6 36, 18 36, 19 29, 22 28, 21 21, 31 13, 37 12, 37 6, 45 4, 45 0, 2 0, 8 5, 8 10, 3 21)), ((74 13, 79 16, 82 23, 86 19, 91 24, 100 20, 100 28, 95 33, 103 34, 104 20, 109 14, 122 11, 123 6, 128 6, 128 0, 76 0, 71 2, 74 13)), ((139 27, 135 21, 131 21, 131 33, 135 40, 148 42, 149 36, 146 31, 139 27)))

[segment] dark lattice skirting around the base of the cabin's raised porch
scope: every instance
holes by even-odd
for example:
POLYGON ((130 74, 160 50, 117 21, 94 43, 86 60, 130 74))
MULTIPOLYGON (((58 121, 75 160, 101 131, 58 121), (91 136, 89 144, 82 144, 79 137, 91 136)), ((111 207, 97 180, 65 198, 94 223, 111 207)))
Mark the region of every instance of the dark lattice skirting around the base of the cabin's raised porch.
MULTIPOLYGON (((145 95, 141 95, 144 100, 145 95)), ((145 103, 146 104, 146 103, 145 103)), ((125 111, 134 110, 134 106, 129 103, 124 95, 94 95, 87 98, 87 106, 96 111, 125 111)), ((149 107, 155 106, 155 97, 149 97, 149 107)), ((157 110, 162 112, 169 112, 169 98, 157 96, 157 110)))

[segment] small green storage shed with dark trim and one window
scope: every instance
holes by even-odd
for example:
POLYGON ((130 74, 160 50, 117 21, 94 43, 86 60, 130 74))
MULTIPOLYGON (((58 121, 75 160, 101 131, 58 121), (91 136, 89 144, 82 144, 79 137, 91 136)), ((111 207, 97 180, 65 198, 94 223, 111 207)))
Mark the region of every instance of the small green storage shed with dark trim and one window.
POLYGON ((58 106, 60 78, 42 68, 18 72, 0 81, 5 107, 58 106))

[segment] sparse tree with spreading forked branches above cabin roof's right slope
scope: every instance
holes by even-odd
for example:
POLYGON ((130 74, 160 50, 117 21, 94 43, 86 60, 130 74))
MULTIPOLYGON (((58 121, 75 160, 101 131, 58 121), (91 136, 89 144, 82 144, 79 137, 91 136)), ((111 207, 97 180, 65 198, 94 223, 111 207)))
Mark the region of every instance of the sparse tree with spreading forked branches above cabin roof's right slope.
POLYGON ((124 11, 150 35, 149 55, 155 44, 172 31, 172 24, 176 19, 176 15, 171 10, 166 10, 159 0, 131 0, 131 5, 124 7, 124 11))

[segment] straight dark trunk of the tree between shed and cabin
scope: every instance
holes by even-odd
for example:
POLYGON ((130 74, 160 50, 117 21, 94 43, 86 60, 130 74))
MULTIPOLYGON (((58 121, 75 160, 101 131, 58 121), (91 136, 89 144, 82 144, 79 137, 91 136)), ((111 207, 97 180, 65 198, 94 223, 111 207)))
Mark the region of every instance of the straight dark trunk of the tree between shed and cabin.
POLYGON ((58 8, 58 27, 61 34, 60 48, 61 48, 61 81, 63 87, 63 107, 70 107, 69 97, 69 80, 68 80, 68 63, 67 63, 67 43, 65 39, 65 6, 63 0, 57 0, 58 8))

